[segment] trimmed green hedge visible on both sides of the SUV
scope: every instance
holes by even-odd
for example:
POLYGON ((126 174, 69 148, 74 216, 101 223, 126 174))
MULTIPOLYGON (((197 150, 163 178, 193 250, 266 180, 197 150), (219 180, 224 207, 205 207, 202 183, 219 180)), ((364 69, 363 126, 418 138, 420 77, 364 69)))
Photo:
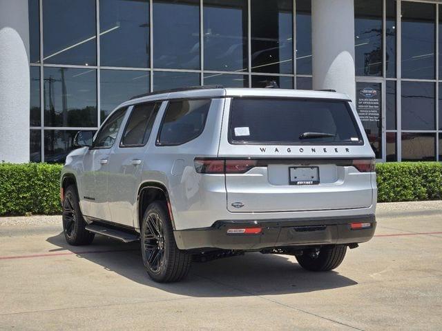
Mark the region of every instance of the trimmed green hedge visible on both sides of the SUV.
MULTIPOLYGON (((0 163, 0 215, 59 214, 62 165, 0 163)), ((379 163, 378 201, 442 199, 442 163, 379 163)))

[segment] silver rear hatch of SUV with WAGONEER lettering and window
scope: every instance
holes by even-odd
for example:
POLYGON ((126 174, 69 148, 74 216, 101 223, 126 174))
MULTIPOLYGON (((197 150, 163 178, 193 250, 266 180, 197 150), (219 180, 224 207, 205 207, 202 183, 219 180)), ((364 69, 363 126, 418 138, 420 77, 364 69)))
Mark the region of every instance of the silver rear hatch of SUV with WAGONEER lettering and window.
POLYGON ((372 205, 372 150, 348 101, 242 97, 227 107, 218 156, 229 211, 372 205))

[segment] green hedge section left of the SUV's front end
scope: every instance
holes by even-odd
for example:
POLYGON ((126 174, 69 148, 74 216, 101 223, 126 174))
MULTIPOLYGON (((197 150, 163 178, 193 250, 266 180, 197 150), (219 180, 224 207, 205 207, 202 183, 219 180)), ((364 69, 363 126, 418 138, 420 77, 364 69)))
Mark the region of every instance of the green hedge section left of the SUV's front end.
POLYGON ((59 214, 62 165, 0 163, 0 215, 59 214))

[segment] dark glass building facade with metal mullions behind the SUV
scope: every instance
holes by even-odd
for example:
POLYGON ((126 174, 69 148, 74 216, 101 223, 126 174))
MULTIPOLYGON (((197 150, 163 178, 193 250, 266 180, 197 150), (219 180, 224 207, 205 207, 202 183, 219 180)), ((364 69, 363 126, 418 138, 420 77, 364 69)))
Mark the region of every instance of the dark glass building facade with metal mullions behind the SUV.
MULTIPOLYGON (((311 0, 28 1, 31 161, 64 161, 78 130, 144 92, 312 86, 311 0)), ((376 159, 442 161, 442 1, 354 10, 356 106, 376 159)))

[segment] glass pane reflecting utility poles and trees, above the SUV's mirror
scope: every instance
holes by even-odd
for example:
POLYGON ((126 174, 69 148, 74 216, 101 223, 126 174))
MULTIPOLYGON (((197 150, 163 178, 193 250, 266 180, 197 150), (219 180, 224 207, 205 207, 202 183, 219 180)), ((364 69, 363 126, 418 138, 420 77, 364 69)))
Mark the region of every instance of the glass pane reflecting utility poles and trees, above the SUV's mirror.
POLYGON ((44 125, 97 126, 97 70, 44 68, 44 125))

